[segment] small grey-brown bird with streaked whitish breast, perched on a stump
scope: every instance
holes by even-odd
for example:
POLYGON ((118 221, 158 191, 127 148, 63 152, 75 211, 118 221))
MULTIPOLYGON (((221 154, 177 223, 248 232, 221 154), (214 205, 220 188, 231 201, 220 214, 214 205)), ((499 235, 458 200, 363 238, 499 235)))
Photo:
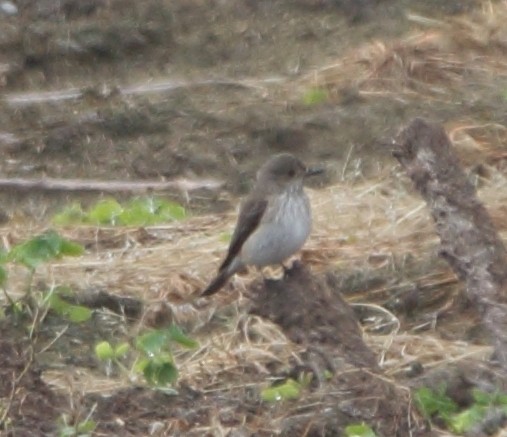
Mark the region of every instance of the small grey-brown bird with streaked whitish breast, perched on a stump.
POLYGON ((283 266, 301 249, 312 227, 303 181, 322 172, 322 168, 307 168, 290 153, 274 155, 261 166, 253 189, 241 203, 227 255, 201 296, 218 292, 247 266, 283 266))

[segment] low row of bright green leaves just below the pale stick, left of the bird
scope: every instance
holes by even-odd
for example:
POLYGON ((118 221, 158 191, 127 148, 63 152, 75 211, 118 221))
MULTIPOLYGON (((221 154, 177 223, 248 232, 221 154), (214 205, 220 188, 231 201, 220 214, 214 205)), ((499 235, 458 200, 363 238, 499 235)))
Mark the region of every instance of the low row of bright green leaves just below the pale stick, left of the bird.
POLYGON ((178 203, 157 197, 137 197, 120 204, 113 198, 98 201, 88 211, 73 203, 53 217, 57 225, 89 224, 106 226, 150 226, 183 220, 185 208, 178 203))

